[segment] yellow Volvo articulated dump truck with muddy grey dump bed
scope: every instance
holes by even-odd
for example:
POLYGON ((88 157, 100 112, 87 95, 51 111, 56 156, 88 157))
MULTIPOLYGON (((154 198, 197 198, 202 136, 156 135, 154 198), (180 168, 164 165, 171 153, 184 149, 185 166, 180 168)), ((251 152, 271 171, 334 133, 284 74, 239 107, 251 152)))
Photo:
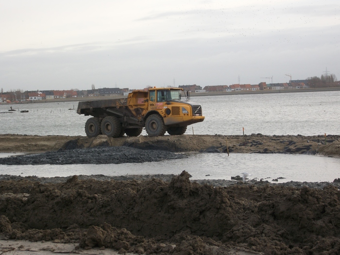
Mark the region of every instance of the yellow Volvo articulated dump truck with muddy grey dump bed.
POLYGON ((182 88, 134 90, 124 99, 79 102, 77 113, 91 115, 85 123, 88 137, 139 136, 145 127, 148 136, 183 135, 187 125, 201 122, 201 105, 190 102, 182 88))

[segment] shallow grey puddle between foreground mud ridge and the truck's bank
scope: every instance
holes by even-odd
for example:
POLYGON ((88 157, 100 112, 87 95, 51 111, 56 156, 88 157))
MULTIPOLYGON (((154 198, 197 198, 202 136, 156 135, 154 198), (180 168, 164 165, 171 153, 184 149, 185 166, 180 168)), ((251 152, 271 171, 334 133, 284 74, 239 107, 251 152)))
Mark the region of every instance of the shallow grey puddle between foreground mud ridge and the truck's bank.
MULTIPOLYGON (((17 153, 0 153, 0 156, 13 156, 17 153)), ((296 155, 296 154, 242 154, 226 153, 192 154, 188 158, 164 160, 161 162, 125 163, 106 165, 0 165, 0 174, 39 177, 104 174, 109 176, 126 174, 179 174, 186 170, 191 179, 225 179, 250 173, 249 178, 265 179, 275 183, 333 182, 340 178, 340 158, 296 155)))

